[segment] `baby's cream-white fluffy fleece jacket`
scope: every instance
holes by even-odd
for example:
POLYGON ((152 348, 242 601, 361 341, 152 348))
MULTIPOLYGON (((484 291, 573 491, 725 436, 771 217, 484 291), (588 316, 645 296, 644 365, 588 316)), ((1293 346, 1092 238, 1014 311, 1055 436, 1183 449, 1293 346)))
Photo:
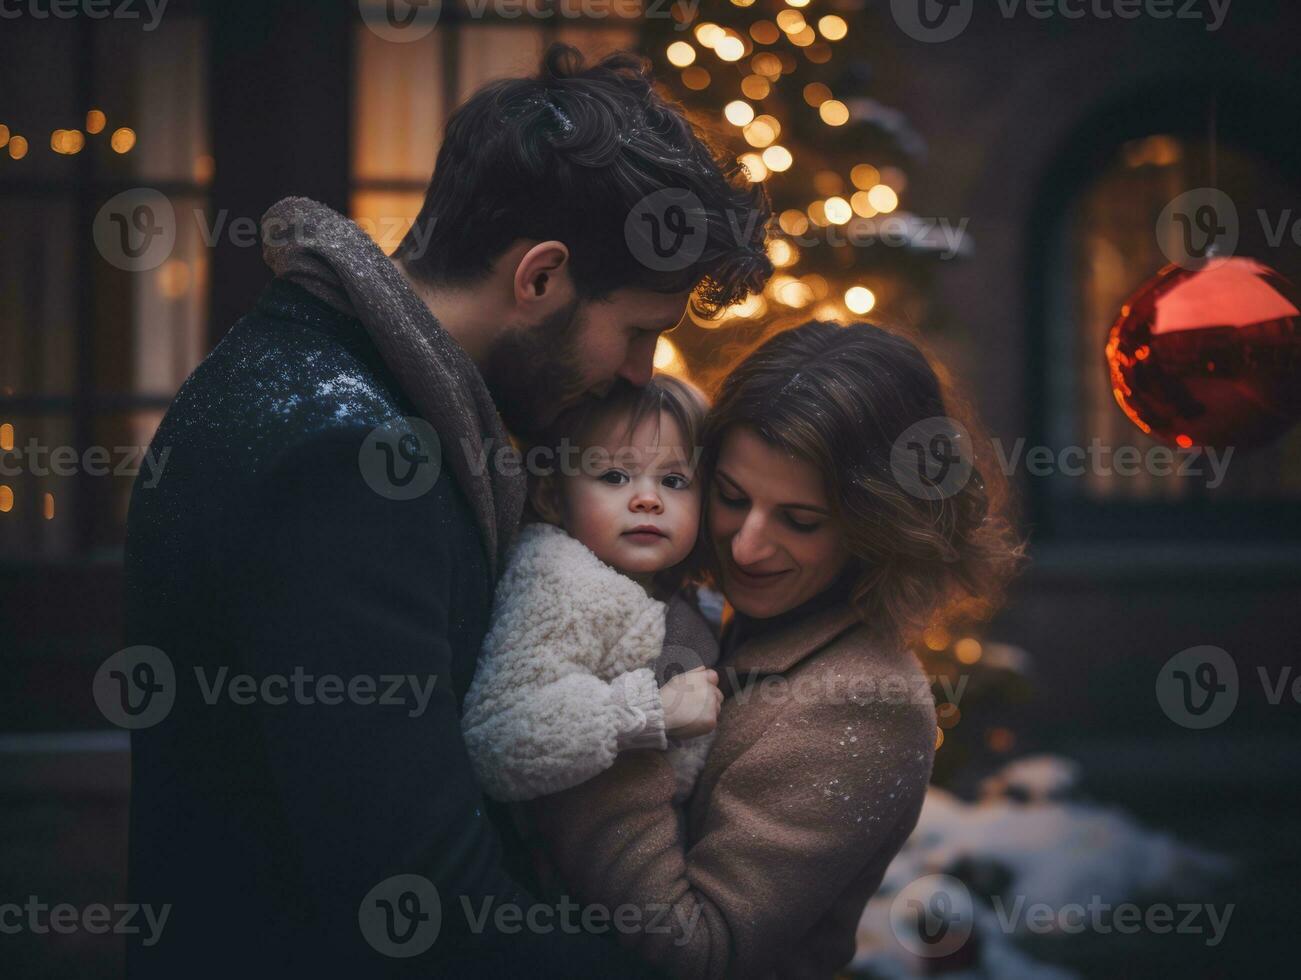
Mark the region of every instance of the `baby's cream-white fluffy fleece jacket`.
MULTIPOLYGON (((484 791, 524 800, 576 786, 626 748, 669 748, 650 665, 664 603, 552 524, 519 534, 462 709, 484 791)), ((712 738, 674 743, 679 798, 712 738)))

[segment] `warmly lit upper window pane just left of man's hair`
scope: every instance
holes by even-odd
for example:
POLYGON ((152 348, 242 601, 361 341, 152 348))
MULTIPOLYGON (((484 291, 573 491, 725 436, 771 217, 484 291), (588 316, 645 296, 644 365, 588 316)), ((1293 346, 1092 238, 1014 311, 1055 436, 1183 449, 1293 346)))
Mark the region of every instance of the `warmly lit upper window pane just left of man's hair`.
POLYGON ((446 113, 442 34, 398 43, 358 25, 355 44, 353 176, 427 182, 446 113))

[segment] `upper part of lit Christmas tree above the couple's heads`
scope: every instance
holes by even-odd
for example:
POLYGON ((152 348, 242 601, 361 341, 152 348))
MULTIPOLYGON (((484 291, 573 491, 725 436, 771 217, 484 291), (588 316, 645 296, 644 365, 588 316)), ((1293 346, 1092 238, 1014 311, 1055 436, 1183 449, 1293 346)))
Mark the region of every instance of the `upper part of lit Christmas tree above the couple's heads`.
POLYGON ((648 20, 647 53, 768 186, 777 273, 762 294, 679 332, 683 363, 665 350, 661 366, 708 370, 723 344, 812 318, 921 327, 930 269, 952 243, 907 207, 925 142, 872 98, 864 40, 886 27, 879 14, 861 0, 710 0, 671 13, 648 20))

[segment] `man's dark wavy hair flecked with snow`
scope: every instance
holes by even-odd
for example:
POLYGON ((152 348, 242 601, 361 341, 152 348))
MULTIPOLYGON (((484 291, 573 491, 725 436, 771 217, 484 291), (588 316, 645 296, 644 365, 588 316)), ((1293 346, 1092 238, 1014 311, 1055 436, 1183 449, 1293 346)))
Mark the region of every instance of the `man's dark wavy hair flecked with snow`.
POLYGON ((764 186, 656 88, 647 59, 615 52, 587 66, 576 48, 553 44, 536 77, 490 82, 451 115, 396 255, 418 280, 458 285, 487 275, 515 239, 556 239, 583 299, 693 290, 695 311, 712 316, 773 275, 770 216, 764 186), (704 206, 705 246, 687 268, 649 268, 624 237, 634 206, 665 189, 704 206))

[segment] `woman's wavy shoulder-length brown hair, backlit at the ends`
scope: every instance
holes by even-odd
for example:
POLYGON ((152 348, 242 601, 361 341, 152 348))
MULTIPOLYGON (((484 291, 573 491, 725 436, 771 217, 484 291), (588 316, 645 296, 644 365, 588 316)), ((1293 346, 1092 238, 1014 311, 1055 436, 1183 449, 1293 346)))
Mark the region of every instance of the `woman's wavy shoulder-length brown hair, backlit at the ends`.
POLYGON ((928 626, 986 618, 1002 603, 1024 551, 1007 482, 968 406, 911 340, 818 320, 777 333, 717 385, 701 432, 706 472, 735 426, 824 475, 856 564, 851 601, 882 640, 913 643, 928 626), (928 419, 976 442, 960 485, 900 470, 896 442, 928 419))

